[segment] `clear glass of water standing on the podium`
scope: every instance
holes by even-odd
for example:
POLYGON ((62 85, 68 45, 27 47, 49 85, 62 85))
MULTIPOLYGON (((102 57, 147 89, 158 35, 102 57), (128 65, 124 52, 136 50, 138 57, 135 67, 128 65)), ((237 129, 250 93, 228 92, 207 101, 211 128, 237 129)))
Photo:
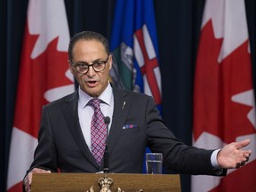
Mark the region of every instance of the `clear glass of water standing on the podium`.
POLYGON ((148 174, 162 174, 163 155, 162 153, 146 154, 146 169, 148 174))

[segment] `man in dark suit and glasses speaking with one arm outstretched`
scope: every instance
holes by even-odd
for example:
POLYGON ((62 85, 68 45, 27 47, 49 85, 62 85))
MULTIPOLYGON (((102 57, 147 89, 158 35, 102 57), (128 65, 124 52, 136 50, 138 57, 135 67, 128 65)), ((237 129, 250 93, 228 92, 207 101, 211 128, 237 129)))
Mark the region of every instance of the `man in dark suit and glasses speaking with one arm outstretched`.
POLYGON ((35 159, 24 179, 28 191, 35 172, 102 171, 109 124, 104 123, 104 116, 110 117, 109 172, 142 172, 147 146, 163 154, 167 170, 186 174, 225 175, 226 169, 238 168, 248 161, 252 151, 240 148, 250 140, 234 142, 220 150, 188 147, 164 125, 151 97, 110 84, 108 74, 113 58, 104 36, 91 31, 77 34, 70 40, 68 55, 69 69, 79 88, 43 108, 35 159), (100 99, 100 108, 95 107, 93 99, 100 99), (100 124, 95 125, 95 118, 100 124), (97 127, 99 130, 95 131, 97 127), (95 135, 101 140, 95 140, 95 135))

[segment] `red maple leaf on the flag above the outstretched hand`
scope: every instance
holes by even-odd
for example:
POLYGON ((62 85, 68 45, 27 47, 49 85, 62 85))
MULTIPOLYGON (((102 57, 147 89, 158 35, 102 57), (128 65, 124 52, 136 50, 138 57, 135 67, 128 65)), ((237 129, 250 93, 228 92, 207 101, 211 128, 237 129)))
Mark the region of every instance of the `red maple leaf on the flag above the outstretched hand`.
POLYGON ((252 107, 231 100, 235 94, 252 89, 248 42, 219 63, 221 44, 222 39, 214 37, 210 20, 202 29, 196 62, 195 140, 203 132, 212 133, 226 143, 235 141, 238 136, 255 133, 247 118, 252 107))

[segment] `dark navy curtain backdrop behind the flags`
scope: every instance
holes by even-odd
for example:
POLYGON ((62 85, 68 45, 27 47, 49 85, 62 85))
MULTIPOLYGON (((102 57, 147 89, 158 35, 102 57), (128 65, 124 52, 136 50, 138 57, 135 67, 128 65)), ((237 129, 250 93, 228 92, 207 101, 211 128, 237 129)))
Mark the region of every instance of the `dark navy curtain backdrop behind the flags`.
MULTIPOLYGON (((70 36, 81 30, 95 30, 107 36, 110 41, 115 0, 65 0, 65 4, 70 36)), ((196 48, 204 0, 155 0, 154 4, 159 65, 162 74, 164 121, 180 140, 190 145, 196 48)), ((245 0, 245 6, 255 86, 255 0, 245 0)), ((28 0, 0 2, 0 191, 5 190, 20 50, 27 8, 28 0)), ((182 176, 182 191, 189 191, 189 188, 189 176, 182 176)))

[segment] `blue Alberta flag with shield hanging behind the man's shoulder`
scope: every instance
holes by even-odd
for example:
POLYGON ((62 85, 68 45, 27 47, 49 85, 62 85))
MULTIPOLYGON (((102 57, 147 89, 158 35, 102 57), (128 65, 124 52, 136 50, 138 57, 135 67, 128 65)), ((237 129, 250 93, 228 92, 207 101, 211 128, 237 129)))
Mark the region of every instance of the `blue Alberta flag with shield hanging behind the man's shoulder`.
POLYGON ((117 0, 112 28, 111 52, 114 84, 144 92, 161 108, 161 74, 158 65, 153 0, 117 0))

